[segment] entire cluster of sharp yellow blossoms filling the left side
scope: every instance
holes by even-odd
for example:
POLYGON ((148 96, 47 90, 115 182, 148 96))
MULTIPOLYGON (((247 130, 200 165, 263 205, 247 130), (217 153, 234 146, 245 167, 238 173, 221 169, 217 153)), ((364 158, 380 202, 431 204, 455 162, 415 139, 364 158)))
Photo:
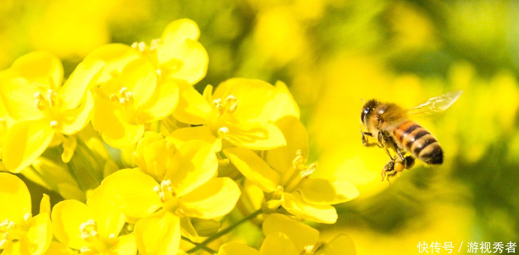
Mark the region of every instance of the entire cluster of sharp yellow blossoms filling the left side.
POLYGON ((0 72, 2 170, 64 198, 51 209, 44 195, 33 217, 28 188, 0 173, 2 254, 354 252, 345 235, 318 242, 299 222, 335 223, 332 205, 358 191, 311 177, 286 85, 232 78, 199 93, 209 59, 198 37, 182 19, 148 44, 93 50, 66 80, 47 52, 0 72), (260 251, 208 247, 247 220, 262 224, 260 251))

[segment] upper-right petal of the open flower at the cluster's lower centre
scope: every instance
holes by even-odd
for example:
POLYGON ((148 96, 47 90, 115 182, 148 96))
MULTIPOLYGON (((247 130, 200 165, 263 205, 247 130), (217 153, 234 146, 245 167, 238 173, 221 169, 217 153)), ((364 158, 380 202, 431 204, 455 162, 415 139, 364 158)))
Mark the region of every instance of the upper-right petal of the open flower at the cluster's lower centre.
POLYGON ((176 167, 169 169, 164 179, 171 181, 177 197, 206 183, 218 168, 211 144, 199 140, 186 142, 177 148, 172 162, 176 162, 176 167))

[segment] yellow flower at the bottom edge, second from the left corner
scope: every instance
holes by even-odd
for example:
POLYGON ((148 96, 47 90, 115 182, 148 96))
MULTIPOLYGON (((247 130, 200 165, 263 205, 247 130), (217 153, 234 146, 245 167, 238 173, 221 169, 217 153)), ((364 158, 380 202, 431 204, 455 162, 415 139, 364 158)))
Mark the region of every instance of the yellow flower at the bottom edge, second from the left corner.
POLYGON ((83 254, 135 254, 133 235, 119 236, 125 224, 124 215, 103 196, 98 188, 86 204, 64 200, 54 205, 51 215, 54 236, 83 254))

